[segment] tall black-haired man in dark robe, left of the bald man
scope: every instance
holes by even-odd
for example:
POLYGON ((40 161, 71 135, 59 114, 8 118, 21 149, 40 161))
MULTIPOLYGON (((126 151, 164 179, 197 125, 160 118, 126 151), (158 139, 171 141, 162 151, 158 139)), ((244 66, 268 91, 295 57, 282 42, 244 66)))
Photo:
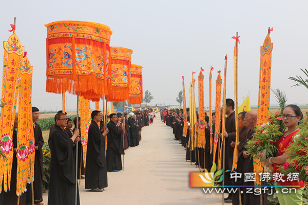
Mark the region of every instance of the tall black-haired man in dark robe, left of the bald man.
MULTIPOLYGON (((225 170, 232 170, 234 147, 230 144, 232 141, 235 142, 236 138, 234 101, 232 99, 226 99, 225 114, 227 115, 225 120, 225 131, 221 133, 221 136, 225 138, 225 170)), ((230 172, 225 173, 224 184, 232 185, 230 172)), ((229 194, 225 200, 227 200, 226 202, 232 202, 232 194, 229 194)))

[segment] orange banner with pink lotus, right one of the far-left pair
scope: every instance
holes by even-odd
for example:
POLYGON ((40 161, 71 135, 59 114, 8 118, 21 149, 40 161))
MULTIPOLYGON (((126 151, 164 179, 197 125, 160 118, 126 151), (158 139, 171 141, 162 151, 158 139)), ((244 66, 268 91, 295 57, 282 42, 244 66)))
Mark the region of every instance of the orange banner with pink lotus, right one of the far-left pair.
POLYGON ((32 123, 31 87, 32 66, 27 57, 20 65, 21 86, 18 97, 18 132, 17 132, 17 184, 19 196, 27 190, 27 182, 34 180, 34 136, 32 123), (30 115, 31 114, 31 115, 30 115), (31 129, 31 131, 30 131, 31 129), (32 136, 31 136, 32 135, 32 136), (29 177, 29 179, 28 179, 29 177))

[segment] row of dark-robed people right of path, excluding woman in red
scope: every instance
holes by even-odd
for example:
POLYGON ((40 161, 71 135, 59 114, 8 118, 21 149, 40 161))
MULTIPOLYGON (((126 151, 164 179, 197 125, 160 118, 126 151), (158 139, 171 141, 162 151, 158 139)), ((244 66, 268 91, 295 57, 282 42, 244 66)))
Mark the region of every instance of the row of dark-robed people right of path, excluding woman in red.
MULTIPOLYGON (((210 138, 214 139, 215 134, 215 119, 216 113, 212 113, 212 133, 210 134, 210 127, 209 127, 209 117, 205 113, 205 139, 206 145, 205 148, 195 147, 194 151, 190 151, 190 147, 188 147, 188 141, 190 140, 190 127, 187 128, 187 135, 183 137, 183 128, 184 128, 184 119, 183 119, 183 110, 176 109, 176 110, 161 110, 161 121, 166 124, 166 126, 170 126, 173 130, 173 134, 175 136, 175 140, 180 141, 180 144, 185 147, 186 156, 185 159, 191 162, 195 162, 197 166, 200 166, 202 169, 206 169, 210 172, 211 166, 213 165, 213 152, 210 153, 210 146, 214 147, 214 140, 213 144, 210 144, 210 138), (198 156, 199 155, 199 156, 198 156), (199 165, 200 162, 200 165, 199 165)), ((186 109, 186 119, 189 123, 189 108, 186 109)), ((221 147, 222 140, 221 138, 224 137, 225 139, 225 152, 222 153, 225 157, 225 170, 232 170, 233 165, 233 153, 234 147, 236 146, 236 129, 235 129, 235 112, 234 112, 234 101, 232 99, 226 99, 226 106, 225 106, 225 131, 219 134, 220 138, 217 143, 217 151, 215 156, 215 163, 216 165, 219 163, 219 152, 218 147, 221 147)), ((222 119, 222 110, 220 115, 220 119, 222 119)), ((198 113, 197 113, 198 118, 198 113)), ((254 127, 257 125, 257 113, 256 111, 248 111, 247 113, 241 112, 238 115, 239 120, 239 144, 237 145, 239 155, 238 155, 238 163, 237 163, 237 172, 242 173, 253 173, 254 172, 254 161, 251 157, 246 154, 246 149, 244 144, 247 140, 252 139, 252 135, 254 133, 254 127), (245 116, 247 116, 245 118, 245 116), (245 120, 244 120, 245 119, 245 120)), ((220 121, 220 131, 222 130, 222 121, 220 121)), ((214 150, 214 149, 213 149, 214 150)), ((204 171, 203 171, 204 172, 204 171)), ((230 172, 225 173, 224 178, 224 185, 254 185, 254 182, 244 182, 244 180, 237 180, 235 182, 234 179, 230 178, 230 172)), ((263 185, 263 184, 262 184, 263 185)), ((241 194, 241 202, 242 204, 260 204, 260 196, 255 194, 248 194, 246 193, 246 188, 244 188, 241 194)), ((235 205, 240 204, 239 193, 229 194, 224 201, 226 203, 232 203, 235 205)), ((263 194, 263 204, 267 204, 267 194, 263 194)))

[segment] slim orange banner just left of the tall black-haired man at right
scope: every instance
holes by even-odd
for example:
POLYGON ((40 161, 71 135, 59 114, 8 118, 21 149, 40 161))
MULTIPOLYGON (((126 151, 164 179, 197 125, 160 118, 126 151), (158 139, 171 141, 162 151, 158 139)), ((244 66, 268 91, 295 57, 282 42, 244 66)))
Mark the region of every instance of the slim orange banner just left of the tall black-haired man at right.
MULTIPOLYGON (((213 148, 213 162, 216 158, 218 135, 220 133, 220 104, 221 104, 221 84, 222 79, 220 77, 220 70, 218 71, 218 77, 216 80, 216 107, 215 107, 215 135, 214 135, 214 148, 213 148)), ((219 145, 218 145, 219 146, 219 145)))

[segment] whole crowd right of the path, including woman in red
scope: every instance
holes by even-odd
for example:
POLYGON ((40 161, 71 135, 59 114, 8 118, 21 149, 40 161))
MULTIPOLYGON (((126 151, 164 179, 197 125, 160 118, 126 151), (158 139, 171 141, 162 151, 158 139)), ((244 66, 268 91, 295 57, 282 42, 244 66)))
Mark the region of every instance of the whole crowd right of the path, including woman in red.
MULTIPOLYGON (((249 186, 254 186, 254 181, 246 181, 244 180, 244 175, 247 173, 254 173, 254 159, 249 155, 245 148, 245 144, 247 140, 251 140, 253 138, 253 134, 255 133, 255 127, 257 126, 257 111, 243 111, 235 116, 234 112, 234 101, 232 99, 226 99, 225 102, 225 130, 221 131, 222 124, 220 121, 220 133, 219 140, 217 142, 217 151, 215 157, 215 163, 218 165, 219 155, 218 155, 218 147, 221 146, 222 138, 225 140, 224 153, 222 152, 222 156, 225 157, 225 170, 232 170, 233 165, 233 155, 234 148, 237 146, 238 148, 238 162, 237 162, 237 174, 241 174, 241 179, 234 178, 230 172, 225 172, 224 177, 224 185, 229 186, 243 186, 239 190, 237 189, 236 193, 228 193, 228 196, 224 198, 225 203, 232 203, 235 205, 240 204, 260 204, 262 201, 263 204, 267 204, 267 191, 261 195, 254 192, 249 192, 249 186), (238 118, 238 126, 239 126, 239 143, 236 144, 236 117, 238 118), (237 180, 236 180, 237 179, 237 180)), ((211 113, 212 116, 212 130, 213 134, 210 134, 209 127, 209 117, 207 113, 205 113, 205 138, 206 145, 205 147, 194 147, 192 149, 188 146, 188 141, 190 140, 191 133, 189 132, 190 126, 187 127, 187 135, 183 137, 183 128, 184 128, 184 116, 183 109, 161 109, 161 121, 166 124, 166 126, 170 126, 173 129, 174 140, 180 141, 180 144, 186 149, 186 160, 190 160, 191 162, 195 162, 197 166, 200 166, 202 169, 210 172, 210 169, 213 165, 213 152, 210 152, 210 146, 214 147, 214 140, 212 140, 213 144, 210 144, 210 138, 214 138, 215 133, 215 120, 216 115, 221 115, 220 119, 222 119, 222 110, 220 114, 216 114, 215 112, 211 113), (200 164, 199 164, 200 163, 200 164)), ((196 112, 198 119, 198 111, 196 112)), ((287 105, 281 115, 282 121, 286 126, 287 130, 281 136, 281 138, 276 143, 278 152, 276 157, 269 157, 267 161, 264 163, 273 164, 274 165, 274 173, 279 173, 278 165, 284 164, 286 159, 288 158, 287 148, 293 143, 293 136, 295 136, 299 132, 298 121, 302 119, 303 115, 301 113, 300 108, 297 105, 287 105), (286 150, 285 150, 286 149, 286 150)), ((190 115, 189 108, 186 109, 186 119, 189 125, 190 115)), ((223 162, 222 162, 223 163, 223 162)), ((204 172, 204 171, 203 171, 204 172)), ((284 178, 283 178, 284 179, 284 178)), ((286 176, 285 176, 286 179, 286 176)), ((303 181, 287 181, 287 180, 277 181, 281 186, 292 185, 296 189, 290 190, 290 193, 282 193, 283 188, 276 188, 278 200, 280 204, 302 204, 302 193, 305 187, 305 183, 303 181), (297 186, 297 187, 296 187, 297 186)), ((277 184, 277 185, 278 185, 277 184)), ((222 185, 222 184, 220 184, 222 185)), ((267 181, 262 181, 262 185, 267 185, 267 181)), ((225 192, 226 193, 226 192, 225 192)))

